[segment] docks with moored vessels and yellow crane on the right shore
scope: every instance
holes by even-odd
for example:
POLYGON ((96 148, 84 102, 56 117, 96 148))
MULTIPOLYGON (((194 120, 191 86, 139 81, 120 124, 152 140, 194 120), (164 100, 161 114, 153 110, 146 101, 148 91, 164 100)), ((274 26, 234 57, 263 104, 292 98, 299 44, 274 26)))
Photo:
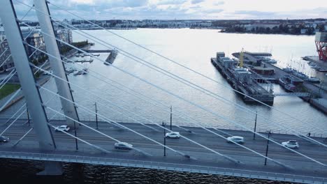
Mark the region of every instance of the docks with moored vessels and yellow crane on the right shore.
MULTIPOLYGON (((309 102, 310 105, 326 114, 327 89, 323 84, 324 80, 307 76, 293 68, 279 68, 274 65, 277 61, 270 59, 272 54, 267 52, 242 51, 232 55, 235 58, 230 59, 225 57, 224 52, 217 52, 217 57, 212 58, 211 62, 233 89, 251 97, 243 96, 245 102, 252 102, 254 98, 273 105, 274 97, 293 95, 309 102), (286 93, 274 93, 273 89, 269 88, 271 83, 279 84, 286 93), (262 84, 266 84, 267 89, 263 88, 262 84)), ((317 63, 321 70, 319 72, 324 72, 324 68, 327 67, 327 63, 319 61, 318 56, 305 56, 303 59, 317 63)))

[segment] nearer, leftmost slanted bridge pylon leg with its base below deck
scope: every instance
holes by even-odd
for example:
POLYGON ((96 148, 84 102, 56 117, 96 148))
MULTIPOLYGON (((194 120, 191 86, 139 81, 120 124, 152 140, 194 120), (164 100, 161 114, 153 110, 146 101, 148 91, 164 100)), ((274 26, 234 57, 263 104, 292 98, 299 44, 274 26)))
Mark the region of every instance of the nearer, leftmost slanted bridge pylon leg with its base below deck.
MULTIPOLYGON (((39 148, 41 152, 51 153, 55 150, 56 144, 48 125, 48 117, 45 114, 40 92, 36 87, 33 70, 29 65, 29 56, 27 56, 27 51, 23 44, 22 32, 17 22, 12 1, 1 1, 0 17, 13 62, 15 63, 17 75, 20 79, 22 92, 24 93, 24 98, 27 102, 31 119, 33 120, 33 129, 36 132, 39 148)), ((43 174, 54 175, 59 173, 62 173, 60 162, 45 162, 45 171, 43 174)))

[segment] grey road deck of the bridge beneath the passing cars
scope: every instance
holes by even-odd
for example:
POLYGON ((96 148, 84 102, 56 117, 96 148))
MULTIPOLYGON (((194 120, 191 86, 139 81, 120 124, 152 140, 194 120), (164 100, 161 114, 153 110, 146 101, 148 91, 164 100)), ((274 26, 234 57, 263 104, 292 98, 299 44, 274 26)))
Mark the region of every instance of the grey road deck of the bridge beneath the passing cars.
MULTIPOLYGON (((4 120, 3 120, 4 121, 4 120)), ((136 151, 121 151, 115 150, 113 147, 114 141, 100 135, 99 133, 92 132, 85 127, 78 129, 78 137, 85 139, 96 146, 101 146, 111 153, 103 153, 95 148, 78 142, 78 151, 75 151, 75 139, 65 135, 62 132, 52 132, 56 140, 57 150, 51 153, 43 153, 38 150, 38 142, 34 132, 31 131, 27 137, 20 141, 17 146, 13 144, 29 130, 30 127, 22 125, 24 120, 15 123, 5 136, 10 137, 10 142, 0 144, 0 157, 1 158, 21 158, 31 160, 60 160, 64 162, 80 162, 89 164, 111 164, 123 165, 131 167, 146 167, 155 169, 168 169, 176 171, 193 171, 208 174, 225 174, 230 176, 245 176, 249 178, 268 178, 279 181, 293 181, 294 178, 300 180, 296 182, 313 183, 312 181, 324 181, 327 183, 326 167, 314 163, 307 158, 303 158, 296 153, 293 153, 286 148, 282 148, 270 142, 268 156, 284 164, 288 164, 293 169, 286 169, 273 162, 268 161, 268 165, 264 166, 264 158, 260 158, 254 153, 246 151, 234 144, 226 143, 226 140, 217 137, 217 135, 210 134, 201 128, 189 128, 194 134, 183 132, 183 130, 173 126, 173 130, 180 132, 182 135, 198 141, 199 143, 219 151, 225 155, 230 156, 236 160, 240 160, 244 164, 235 164, 222 158, 215 153, 210 153, 196 144, 192 144, 186 139, 167 139, 166 145, 175 148, 177 151, 186 153, 196 158, 196 160, 188 160, 173 151, 166 150, 167 155, 163 157, 163 148, 147 139, 136 135, 129 130, 118 130, 108 123, 99 123, 99 130, 110 135, 119 141, 126 141, 133 144, 136 148, 150 153, 152 156, 146 156, 136 151), (31 154, 33 153, 33 154, 31 154), (314 177, 314 178, 312 178, 314 177), (310 182, 309 182, 310 181, 310 182)), ((61 121, 54 122, 55 125, 61 125, 61 121)), ((95 122, 87 122, 88 125, 96 127, 95 122)), ((163 143, 163 131, 155 132, 150 128, 146 128, 139 124, 124 123, 129 128, 133 128, 143 135, 147 135, 152 139, 163 143)), ((153 128, 157 128, 151 125, 153 128)), ((5 126, 0 126, 3 130, 5 126)), ((159 128, 157 128, 160 130, 159 128)), ((231 135, 240 135, 245 137, 245 146, 258 151, 261 154, 266 152, 266 139, 256 136, 253 139, 251 132, 237 131, 237 130, 224 130, 231 135)), ((215 132, 220 133, 215 130, 215 132)), ((73 134, 73 132, 70 132, 73 134)), ((228 135, 225 135, 228 137, 228 135)), ((308 141, 300 140, 298 137, 292 135, 279 135, 273 134, 271 138, 281 142, 289 139, 297 139, 300 148, 297 150, 305 155, 319 160, 320 162, 327 163, 326 148, 317 146, 308 141)), ((321 138, 315 138, 322 141, 321 138)), ((322 182, 321 182, 322 183, 322 182)))

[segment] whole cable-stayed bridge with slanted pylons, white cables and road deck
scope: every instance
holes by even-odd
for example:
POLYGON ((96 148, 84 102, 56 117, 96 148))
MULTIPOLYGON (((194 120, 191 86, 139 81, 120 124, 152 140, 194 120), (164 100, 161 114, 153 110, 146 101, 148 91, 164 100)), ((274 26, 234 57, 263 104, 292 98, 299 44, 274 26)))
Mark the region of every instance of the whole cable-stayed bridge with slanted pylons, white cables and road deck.
MULTIPOLYGON (((111 43, 107 43, 92 36, 87 33, 87 31, 79 30, 73 25, 54 19, 54 17, 50 15, 51 7, 59 8, 66 13, 70 13, 71 15, 82 19, 82 17, 56 6, 55 3, 52 3, 51 1, 35 0, 34 5, 29 5, 18 0, 1 1, 1 22, 6 33, 6 41, 8 41, 11 56, 15 63, 15 70, 12 70, 6 79, 1 82, 0 88, 8 83, 9 79, 17 73, 20 78, 24 100, 26 101, 26 103, 24 103, 10 118, 0 117, 0 135, 10 137, 8 143, 0 144, 1 158, 42 160, 45 162, 45 169, 41 174, 47 175, 61 174, 61 162, 78 162, 87 164, 166 169, 171 171, 189 171, 205 174, 221 174, 248 178, 263 178, 297 183, 327 183, 327 145, 323 138, 307 136, 303 134, 303 132, 298 132, 293 128, 283 125, 282 122, 257 114, 245 106, 224 98, 224 95, 219 95, 206 89, 201 84, 191 82, 176 75, 170 70, 166 70, 150 63, 140 56, 133 55, 120 48, 119 45, 112 45, 111 43), (24 40, 24 38, 22 38, 22 32, 18 23, 24 24, 24 26, 30 26, 17 18, 13 2, 20 3, 21 5, 28 7, 29 11, 33 10, 36 12, 38 22, 41 26, 41 34, 45 40, 46 51, 38 48, 36 45, 30 45, 24 40), (112 65, 83 49, 79 49, 64 40, 57 38, 52 26, 53 21, 56 21, 65 29, 76 31, 76 33, 81 36, 85 36, 85 38, 106 47, 108 50, 117 49, 119 54, 122 54, 130 61, 136 61, 147 68, 151 68, 157 73, 170 77, 172 80, 185 84, 196 91, 247 112, 247 114, 255 114, 256 116, 265 119, 265 121, 271 125, 282 130, 287 130, 288 134, 273 132, 273 134, 270 135, 271 132, 261 132, 256 130, 256 128, 249 128, 215 110, 208 109, 207 107, 189 100, 182 95, 176 94, 174 91, 164 89, 159 84, 154 84, 154 82, 131 73, 125 68, 112 65), (221 119, 221 121, 242 128, 242 131, 215 128, 215 126, 208 125, 201 122, 198 118, 190 116, 189 113, 184 112, 183 109, 175 109, 175 116, 182 116, 182 118, 189 122, 191 126, 165 125, 164 123, 152 121, 150 118, 143 116, 143 114, 138 114, 130 109, 126 109, 115 102, 111 102, 106 99, 106 97, 92 93, 92 91, 68 80, 64 66, 70 64, 68 62, 70 59, 64 59, 64 56, 59 52, 58 43, 90 56, 95 61, 107 63, 113 69, 119 70, 125 75, 129 75, 130 77, 138 79, 140 82, 153 86, 172 98, 187 102, 189 105, 221 119), (46 54, 49 57, 47 62, 50 62, 53 72, 43 70, 41 66, 36 66, 34 63, 31 63, 29 58, 35 52, 28 56, 26 47, 34 49, 35 52, 37 51, 46 54), (36 72, 41 71, 51 75, 57 86, 57 91, 38 85, 34 78, 34 70, 36 70, 36 72), (99 103, 102 103, 103 105, 119 108, 122 112, 126 112, 126 114, 122 113, 122 116, 133 119, 135 123, 122 123, 115 121, 110 118, 108 114, 100 114, 97 110, 94 111, 90 107, 81 105, 79 102, 74 100, 71 87, 85 91, 85 93, 88 94, 85 96, 86 99, 94 96, 100 98, 102 102, 99 103), (43 102, 40 95, 41 91, 46 91, 47 93, 52 94, 55 98, 58 98, 62 109, 57 110, 48 105, 48 102, 52 99, 43 102), (27 112, 26 105, 29 107, 28 111, 31 120, 20 118, 22 114, 27 112), (96 121, 81 121, 77 108, 85 114, 95 114, 96 121), (48 114, 46 113, 47 111, 59 114, 65 119, 56 120, 54 119, 54 116, 48 117, 48 114), (133 116, 131 116, 131 114, 133 114, 133 116), (68 132, 64 130, 59 130, 59 132, 54 131, 54 128, 63 124, 68 125, 71 130, 68 132), (166 135, 166 132, 173 131, 180 132, 180 139, 165 138, 164 135, 166 135), (227 137, 235 135, 245 137, 247 140, 246 143, 239 144, 235 141, 231 141, 232 144, 228 144, 227 137), (282 141, 288 139, 300 140, 300 148, 288 148, 281 144, 282 141), (114 144, 122 141, 133 144, 130 151, 115 149, 114 144)), ((23 18, 24 17, 25 16, 23 16, 23 18)), ((87 20, 85 21, 89 22, 87 20)), ((89 24, 93 24, 94 26, 103 29, 101 26, 92 22, 89 22, 89 24)), ((215 82, 231 91, 235 91, 235 89, 231 89, 230 86, 221 84, 215 79, 203 75, 195 69, 188 68, 173 59, 169 59, 168 57, 154 52, 132 40, 124 38, 115 32, 107 29, 103 30, 110 33, 110 35, 117 36, 118 38, 128 41, 147 52, 151 52, 166 61, 180 66, 184 68, 184 70, 194 72, 194 74, 198 76, 204 77, 205 79, 215 82)), ((78 63, 75 64, 79 65, 78 63)), ((106 82, 108 85, 115 84, 115 87, 122 92, 129 93, 129 95, 133 95, 136 98, 143 100, 143 102, 151 105, 153 108, 168 111, 169 113, 169 106, 160 99, 150 98, 139 93, 136 88, 130 88, 126 84, 121 84, 115 80, 109 79, 106 75, 94 70, 89 70, 89 75, 94 76, 96 79, 99 79, 99 81, 106 82)), ((240 93, 240 91, 235 92, 240 93)), ((248 96, 248 98, 251 97, 248 96)), ((124 99, 121 100, 122 102, 126 102, 124 99)), ((286 114, 279 109, 262 102, 261 104, 283 116, 287 116, 288 118, 292 118, 294 121, 307 125, 310 129, 314 129, 312 125, 301 121, 295 116, 286 114)), ((317 131, 326 132, 325 130, 317 131)))

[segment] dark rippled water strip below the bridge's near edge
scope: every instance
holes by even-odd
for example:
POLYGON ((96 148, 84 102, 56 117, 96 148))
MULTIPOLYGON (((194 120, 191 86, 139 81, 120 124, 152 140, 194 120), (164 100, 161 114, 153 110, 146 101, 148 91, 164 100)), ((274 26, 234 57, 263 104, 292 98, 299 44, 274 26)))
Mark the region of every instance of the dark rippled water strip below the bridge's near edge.
POLYGON ((10 183, 288 183, 250 178, 191 174, 133 167, 108 167, 91 164, 66 164, 62 176, 36 176, 42 171, 41 162, 1 159, 1 180, 10 183), (19 176, 19 177, 17 177, 19 176))

